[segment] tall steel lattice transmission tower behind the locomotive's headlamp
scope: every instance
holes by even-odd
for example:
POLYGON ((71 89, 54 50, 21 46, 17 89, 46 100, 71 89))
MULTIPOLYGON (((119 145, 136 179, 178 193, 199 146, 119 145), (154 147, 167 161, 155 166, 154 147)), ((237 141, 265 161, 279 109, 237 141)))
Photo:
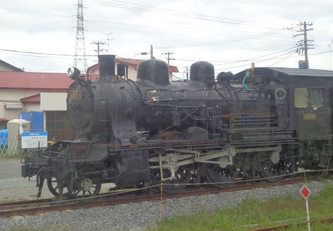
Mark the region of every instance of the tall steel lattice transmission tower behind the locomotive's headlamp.
POLYGON ((76 24, 76 42, 75 42, 75 55, 74 67, 78 68, 81 73, 87 71, 87 58, 85 46, 85 30, 84 30, 84 17, 83 17, 83 4, 82 0, 77 1, 77 24, 76 24))

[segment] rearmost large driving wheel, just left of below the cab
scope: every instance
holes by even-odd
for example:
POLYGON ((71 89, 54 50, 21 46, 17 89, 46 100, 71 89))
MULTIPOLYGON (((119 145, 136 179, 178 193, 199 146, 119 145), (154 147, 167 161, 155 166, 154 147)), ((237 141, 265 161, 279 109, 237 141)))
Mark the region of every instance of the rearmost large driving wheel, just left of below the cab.
POLYGON ((291 164, 284 150, 263 151, 258 154, 260 173, 270 182, 281 180, 287 174, 291 164))

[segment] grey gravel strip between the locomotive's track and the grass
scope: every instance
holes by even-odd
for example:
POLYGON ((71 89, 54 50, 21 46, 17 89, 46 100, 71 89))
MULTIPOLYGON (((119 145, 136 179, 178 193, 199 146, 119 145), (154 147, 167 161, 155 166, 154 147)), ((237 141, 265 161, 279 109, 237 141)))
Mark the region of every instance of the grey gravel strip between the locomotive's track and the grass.
MULTIPOLYGON (((331 180, 311 181, 308 182, 307 186, 312 194, 318 194, 328 184, 333 184, 333 182, 331 180)), ((221 192, 212 195, 166 199, 162 202, 162 217, 180 216, 200 209, 215 211, 221 208, 233 207, 248 197, 255 197, 261 200, 285 195, 300 197, 299 190, 302 185, 303 183, 297 183, 221 192)), ((24 194, 24 191, 21 193, 24 194)), ((0 230, 17 230, 22 228, 29 230, 140 230, 147 226, 155 226, 159 221, 159 217, 160 201, 149 201, 92 207, 89 209, 56 211, 34 216, 0 218, 0 230)))

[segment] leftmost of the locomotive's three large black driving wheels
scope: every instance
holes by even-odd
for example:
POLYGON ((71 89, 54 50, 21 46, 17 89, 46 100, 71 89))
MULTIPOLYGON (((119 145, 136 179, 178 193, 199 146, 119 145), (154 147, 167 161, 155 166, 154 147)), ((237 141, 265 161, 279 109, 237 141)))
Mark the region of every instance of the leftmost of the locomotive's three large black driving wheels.
MULTIPOLYGON (((167 194, 175 194, 184 189, 191 181, 194 172, 194 164, 179 166, 175 170, 175 179, 165 180, 162 185, 162 192, 167 194), (164 185, 165 184, 165 185, 164 185)), ((161 171, 160 169, 154 169, 152 171, 155 184, 161 183, 161 171)), ((163 178, 171 177, 169 169, 163 169, 163 178)), ((157 190, 161 190, 160 186, 156 187, 157 190)))

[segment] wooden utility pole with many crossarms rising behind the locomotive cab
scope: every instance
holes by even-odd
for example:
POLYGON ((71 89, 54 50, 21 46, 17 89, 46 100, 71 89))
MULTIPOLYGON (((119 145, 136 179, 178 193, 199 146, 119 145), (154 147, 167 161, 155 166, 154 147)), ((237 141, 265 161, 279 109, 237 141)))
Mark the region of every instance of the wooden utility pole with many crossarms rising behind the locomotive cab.
POLYGON ((300 26, 300 30, 298 32, 303 32, 301 34, 296 34, 294 37, 299 36, 299 35, 304 35, 304 40, 300 40, 297 42, 297 53, 300 55, 305 55, 305 67, 304 69, 309 68, 309 60, 308 60, 308 54, 307 50, 308 49, 315 49, 314 47, 309 47, 309 46, 314 46, 314 44, 309 44, 310 42, 314 42, 313 40, 308 40, 307 39, 307 31, 313 30, 313 28, 307 28, 308 26, 312 26, 312 23, 306 23, 306 22, 300 22, 298 26, 300 26))

